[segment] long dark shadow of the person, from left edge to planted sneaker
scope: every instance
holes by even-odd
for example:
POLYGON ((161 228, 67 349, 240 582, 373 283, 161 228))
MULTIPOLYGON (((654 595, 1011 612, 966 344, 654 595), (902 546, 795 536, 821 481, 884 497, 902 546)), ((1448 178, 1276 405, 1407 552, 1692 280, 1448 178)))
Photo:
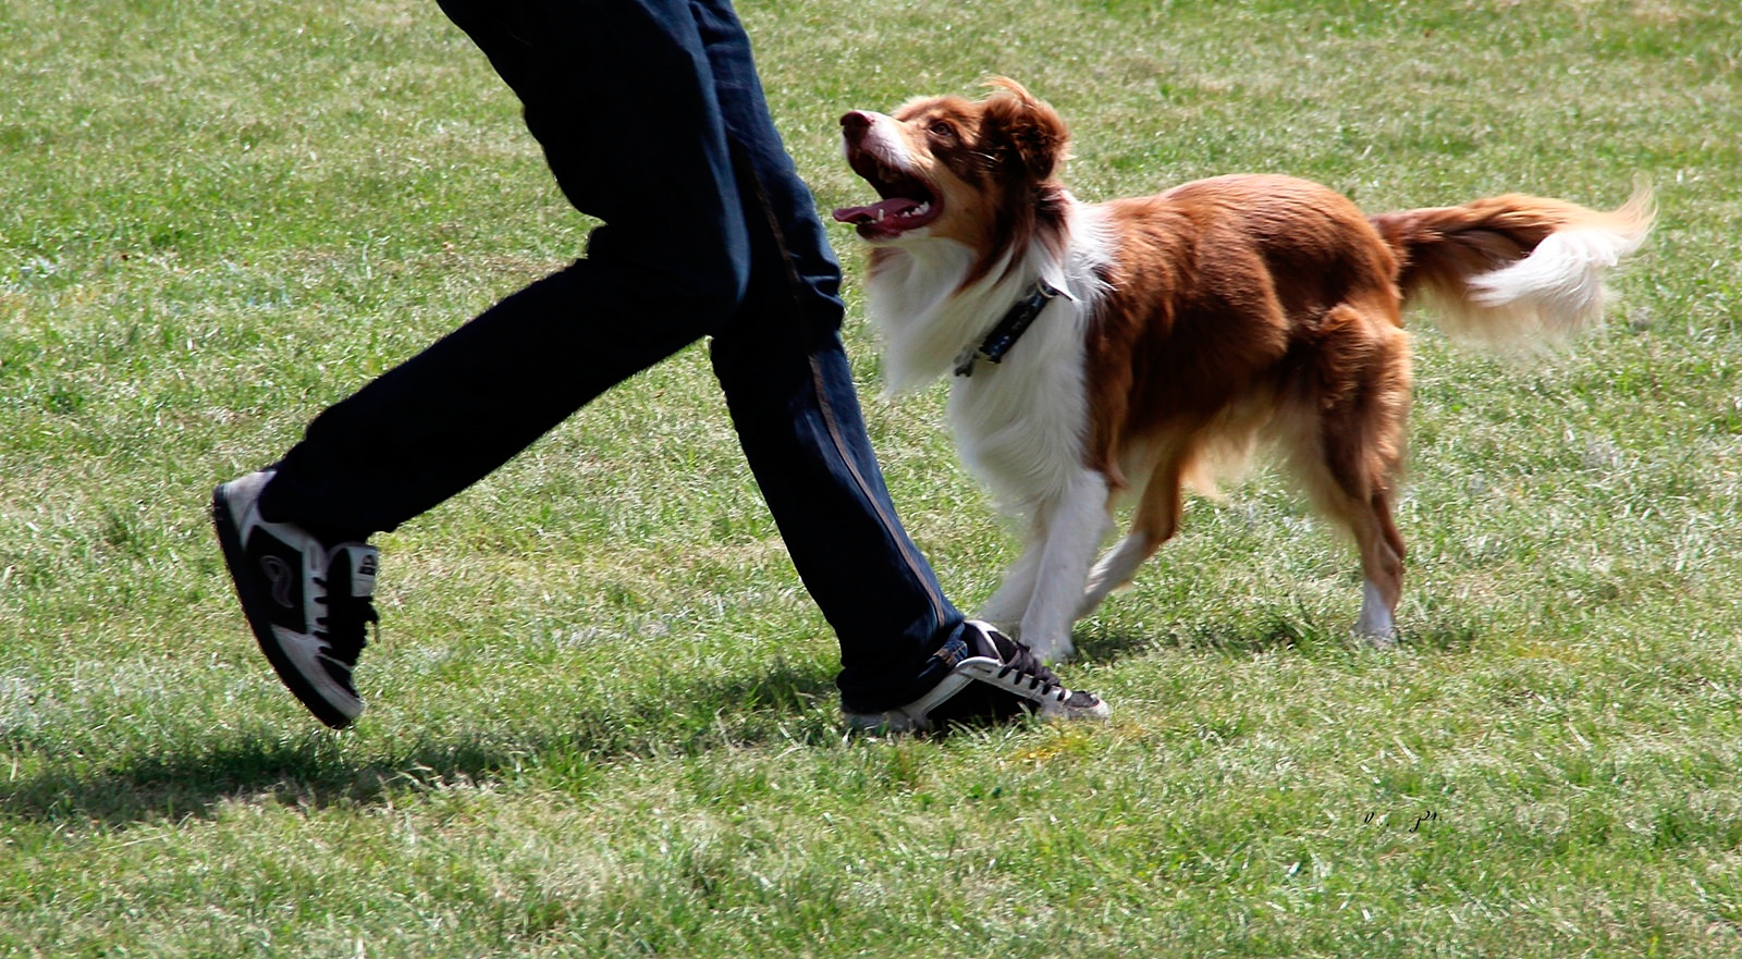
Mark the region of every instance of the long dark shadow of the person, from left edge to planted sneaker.
POLYGON ((505 780, 540 766, 563 776, 564 788, 585 790, 599 768, 624 757, 820 743, 838 734, 834 715, 815 708, 833 689, 827 675, 780 661, 753 677, 662 677, 655 689, 573 714, 561 733, 456 731, 361 762, 345 734, 327 731, 286 738, 279 729, 228 729, 204 741, 195 733, 188 745, 160 755, 120 757, 94 769, 56 762, 37 776, 0 783, 0 813, 125 827, 211 818, 230 799, 305 808, 381 804, 406 792, 505 780))

